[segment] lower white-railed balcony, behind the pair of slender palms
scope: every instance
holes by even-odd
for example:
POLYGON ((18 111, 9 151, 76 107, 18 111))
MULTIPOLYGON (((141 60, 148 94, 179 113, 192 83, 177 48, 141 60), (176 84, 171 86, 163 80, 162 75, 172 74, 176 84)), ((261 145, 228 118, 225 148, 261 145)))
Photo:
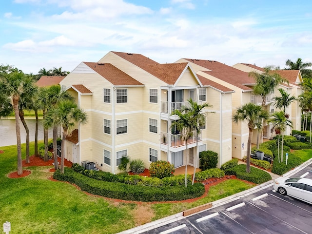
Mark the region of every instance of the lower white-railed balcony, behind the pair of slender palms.
MULTIPOLYGON (((160 140, 161 144, 168 145, 168 133, 161 132, 160 140)), ((171 138, 171 147, 177 148, 186 145, 186 140, 182 140, 182 134, 169 134, 171 138)), ((201 141, 201 133, 197 136, 198 141, 201 141)), ((188 144, 196 142, 196 131, 191 132, 191 137, 187 140, 188 144)))

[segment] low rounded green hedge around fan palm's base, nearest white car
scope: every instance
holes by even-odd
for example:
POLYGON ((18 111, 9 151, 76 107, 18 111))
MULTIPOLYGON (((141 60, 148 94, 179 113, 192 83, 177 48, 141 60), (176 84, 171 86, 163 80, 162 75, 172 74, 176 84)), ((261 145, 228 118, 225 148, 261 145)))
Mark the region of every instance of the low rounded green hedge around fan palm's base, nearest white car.
POLYGON ((225 175, 234 175, 238 179, 244 179, 255 184, 262 184, 272 179, 269 173, 255 167, 250 167, 250 173, 247 173, 245 164, 229 168, 224 173, 225 175))

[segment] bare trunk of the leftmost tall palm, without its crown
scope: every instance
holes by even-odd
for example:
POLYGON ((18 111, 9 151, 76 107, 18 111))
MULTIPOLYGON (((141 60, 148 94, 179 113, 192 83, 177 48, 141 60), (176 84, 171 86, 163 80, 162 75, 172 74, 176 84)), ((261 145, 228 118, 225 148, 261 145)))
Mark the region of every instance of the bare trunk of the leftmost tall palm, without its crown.
POLYGON ((16 130, 16 141, 18 150, 18 176, 23 174, 23 166, 21 163, 21 145, 20 145, 20 121, 19 121, 19 99, 17 95, 13 95, 13 108, 15 115, 15 130, 16 130))

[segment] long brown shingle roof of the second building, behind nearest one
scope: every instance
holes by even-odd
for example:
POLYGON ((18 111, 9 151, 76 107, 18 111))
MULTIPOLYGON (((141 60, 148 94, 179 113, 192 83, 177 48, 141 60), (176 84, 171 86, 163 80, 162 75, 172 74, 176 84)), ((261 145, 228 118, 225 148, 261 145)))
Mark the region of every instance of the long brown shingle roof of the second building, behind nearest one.
POLYGON ((202 71, 215 78, 219 78, 245 91, 252 91, 250 85, 255 83, 254 78, 249 77, 248 73, 240 71, 234 67, 225 65, 214 60, 185 59, 211 71, 202 71), (248 86, 247 86, 248 85, 248 86))

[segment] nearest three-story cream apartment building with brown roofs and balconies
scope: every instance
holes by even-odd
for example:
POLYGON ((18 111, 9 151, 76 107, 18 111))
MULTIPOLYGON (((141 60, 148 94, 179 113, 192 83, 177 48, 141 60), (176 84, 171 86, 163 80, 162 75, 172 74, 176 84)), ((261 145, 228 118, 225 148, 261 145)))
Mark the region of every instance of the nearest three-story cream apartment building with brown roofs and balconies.
POLYGON ((88 115, 74 140, 65 142, 65 157, 73 162, 93 161, 112 173, 122 156, 140 158, 146 168, 156 160, 198 167, 196 140, 199 152, 218 153, 219 167, 232 158, 234 91, 197 76, 189 62, 159 64, 140 54, 109 52, 98 62, 81 62, 60 85, 88 115), (170 126, 172 111, 189 98, 212 107, 205 110, 201 134, 188 140, 187 160, 186 142, 170 126))

